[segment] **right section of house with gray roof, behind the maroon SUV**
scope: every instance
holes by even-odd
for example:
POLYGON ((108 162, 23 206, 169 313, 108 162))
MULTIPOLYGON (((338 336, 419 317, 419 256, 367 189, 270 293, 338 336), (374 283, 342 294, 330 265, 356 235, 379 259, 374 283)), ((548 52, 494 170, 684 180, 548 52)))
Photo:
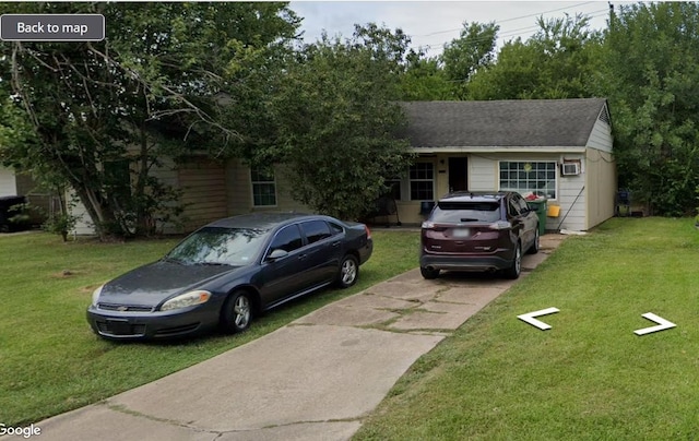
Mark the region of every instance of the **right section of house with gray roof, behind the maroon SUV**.
POLYGON ((587 230, 614 215, 606 99, 413 102, 403 108, 419 157, 400 180, 402 221, 416 221, 419 201, 454 190, 543 195, 559 211, 547 217, 546 229, 587 230))

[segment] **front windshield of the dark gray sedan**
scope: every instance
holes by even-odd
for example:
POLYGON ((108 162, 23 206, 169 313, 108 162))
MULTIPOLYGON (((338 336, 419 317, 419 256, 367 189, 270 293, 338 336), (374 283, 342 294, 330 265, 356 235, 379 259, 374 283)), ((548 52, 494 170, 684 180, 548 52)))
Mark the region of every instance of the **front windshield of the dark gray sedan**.
POLYGON ((170 251, 165 259, 186 265, 232 265, 252 263, 268 235, 251 228, 202 228, 170 251))

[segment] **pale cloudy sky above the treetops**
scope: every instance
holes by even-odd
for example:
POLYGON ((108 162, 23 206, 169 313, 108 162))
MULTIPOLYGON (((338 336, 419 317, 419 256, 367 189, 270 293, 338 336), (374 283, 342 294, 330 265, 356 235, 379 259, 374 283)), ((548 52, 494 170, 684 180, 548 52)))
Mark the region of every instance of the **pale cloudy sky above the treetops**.
MULTIPOLYGON (((615 5, 628 1, 613 1, 615 5)), ((354 24, 375 22, 411 36, 411 48, 422 47, 427 56, 441 52, 446 43, 458 38, 463 22, 500 26, 497 46, 537 31, 536 20, 588 15, 591 27, 606 28, 607 1, 292 1, 300 17, 304 40, 312 43, 324 29, 330 36, 352 36, 354 24)))

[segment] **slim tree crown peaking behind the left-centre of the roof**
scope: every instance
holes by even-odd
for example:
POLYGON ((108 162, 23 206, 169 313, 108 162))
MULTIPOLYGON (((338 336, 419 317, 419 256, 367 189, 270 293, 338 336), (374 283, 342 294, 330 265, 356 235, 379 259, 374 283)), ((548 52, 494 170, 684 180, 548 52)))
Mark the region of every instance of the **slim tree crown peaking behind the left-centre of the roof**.
POLYGON ((476 72, 487 69, 495 61, 495 43, 500 26, 464 22, 459 38, 445 45, 440 57, 445 75, 453 86, 457 98, 466 98, 466 86, 476 72))

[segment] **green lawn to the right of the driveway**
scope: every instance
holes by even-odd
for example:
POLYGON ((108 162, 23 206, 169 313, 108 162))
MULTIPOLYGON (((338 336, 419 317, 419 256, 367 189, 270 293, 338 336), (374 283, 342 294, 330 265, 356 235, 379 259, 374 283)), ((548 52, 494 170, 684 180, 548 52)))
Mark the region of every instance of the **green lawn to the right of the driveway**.
POLYGON ((422 357, 356 439, 698 439, 698 264, 691 219, 568 238, 422 357), (517 319, 548 307, 549 331, 517 319), (637 336, 645 312, 677 327, 637 336))

